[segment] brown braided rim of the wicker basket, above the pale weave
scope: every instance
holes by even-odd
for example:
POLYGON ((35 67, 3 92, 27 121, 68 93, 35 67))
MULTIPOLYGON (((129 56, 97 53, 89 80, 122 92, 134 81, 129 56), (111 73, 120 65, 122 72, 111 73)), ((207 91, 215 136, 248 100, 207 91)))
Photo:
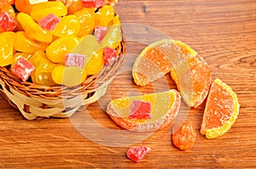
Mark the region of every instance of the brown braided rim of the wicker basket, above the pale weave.
MULTIPOLYGON (((118 51, 119 58, 113 63, 113 65, 104 65, 102 70, 93 76, 87 76, 86 80, 80 85, 75 87, 66 87, 62 85, 55 85, 52 87, 38 85, 32 82, 22 82, 18 77, 14 76, 9 70, 9 66, 0 66, 0 81, 5 84, 5 87, 12 87, 15 91, 32 98, 43 98, 43 99, 67 99, 76 97, 81 93, 93 93, 97 88, 102 87, 105 82, 108 82, 116 74, 119 67, 123 64, 126 45, 125 35, 120 26, 120 32, 122 41, 116 50, 118 51)), ((1 92, 1 90, 0 90, 1 92)), ((4 93, 2 93, 3 95, 4 93)), ((7 99, 7 97, 4 97, 7 99)))

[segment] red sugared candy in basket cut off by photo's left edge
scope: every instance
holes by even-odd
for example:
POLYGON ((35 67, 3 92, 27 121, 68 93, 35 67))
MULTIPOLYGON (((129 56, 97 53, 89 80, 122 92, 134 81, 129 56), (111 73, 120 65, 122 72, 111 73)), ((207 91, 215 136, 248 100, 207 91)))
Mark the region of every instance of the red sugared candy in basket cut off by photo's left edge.
POLYGON ((14 31, 16 25, 15 19, 8 12, 0 14, 0 32, 14 31))

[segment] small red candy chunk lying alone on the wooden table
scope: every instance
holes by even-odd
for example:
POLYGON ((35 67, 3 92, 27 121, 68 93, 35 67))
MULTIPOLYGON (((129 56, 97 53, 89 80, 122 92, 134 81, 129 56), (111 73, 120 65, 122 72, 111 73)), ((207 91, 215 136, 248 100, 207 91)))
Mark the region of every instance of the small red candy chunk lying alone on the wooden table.
POLYGON ((148 154, 149 151, 150 148, 146 146, 130 148, 127 151, 127 157, 131 159, 131 161, 139 162, 143 159, 144 155, 148 154))

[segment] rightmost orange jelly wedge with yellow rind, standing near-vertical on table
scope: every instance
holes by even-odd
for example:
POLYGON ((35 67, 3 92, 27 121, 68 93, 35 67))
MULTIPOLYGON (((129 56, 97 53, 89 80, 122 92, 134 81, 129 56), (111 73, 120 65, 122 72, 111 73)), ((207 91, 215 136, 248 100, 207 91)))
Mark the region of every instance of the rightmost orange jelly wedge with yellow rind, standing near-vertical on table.
POLYGON ((207 138, 218 138, 230 130, 239 114, 240 104, 230 86, 215 79, 207 98, 201 123, 201 134, 207 138))

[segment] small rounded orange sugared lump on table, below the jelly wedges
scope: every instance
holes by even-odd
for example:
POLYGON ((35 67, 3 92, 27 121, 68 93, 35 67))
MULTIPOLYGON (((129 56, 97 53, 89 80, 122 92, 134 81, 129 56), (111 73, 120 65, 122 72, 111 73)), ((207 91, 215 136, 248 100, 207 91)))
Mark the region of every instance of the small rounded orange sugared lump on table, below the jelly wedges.
POLYGON ((172 143, 181 150, 189 150, 195 144, 195 127, 189 120, 175 122, 172 127, 172 143), (181 124, 180 124, 181 123, 181 124))

